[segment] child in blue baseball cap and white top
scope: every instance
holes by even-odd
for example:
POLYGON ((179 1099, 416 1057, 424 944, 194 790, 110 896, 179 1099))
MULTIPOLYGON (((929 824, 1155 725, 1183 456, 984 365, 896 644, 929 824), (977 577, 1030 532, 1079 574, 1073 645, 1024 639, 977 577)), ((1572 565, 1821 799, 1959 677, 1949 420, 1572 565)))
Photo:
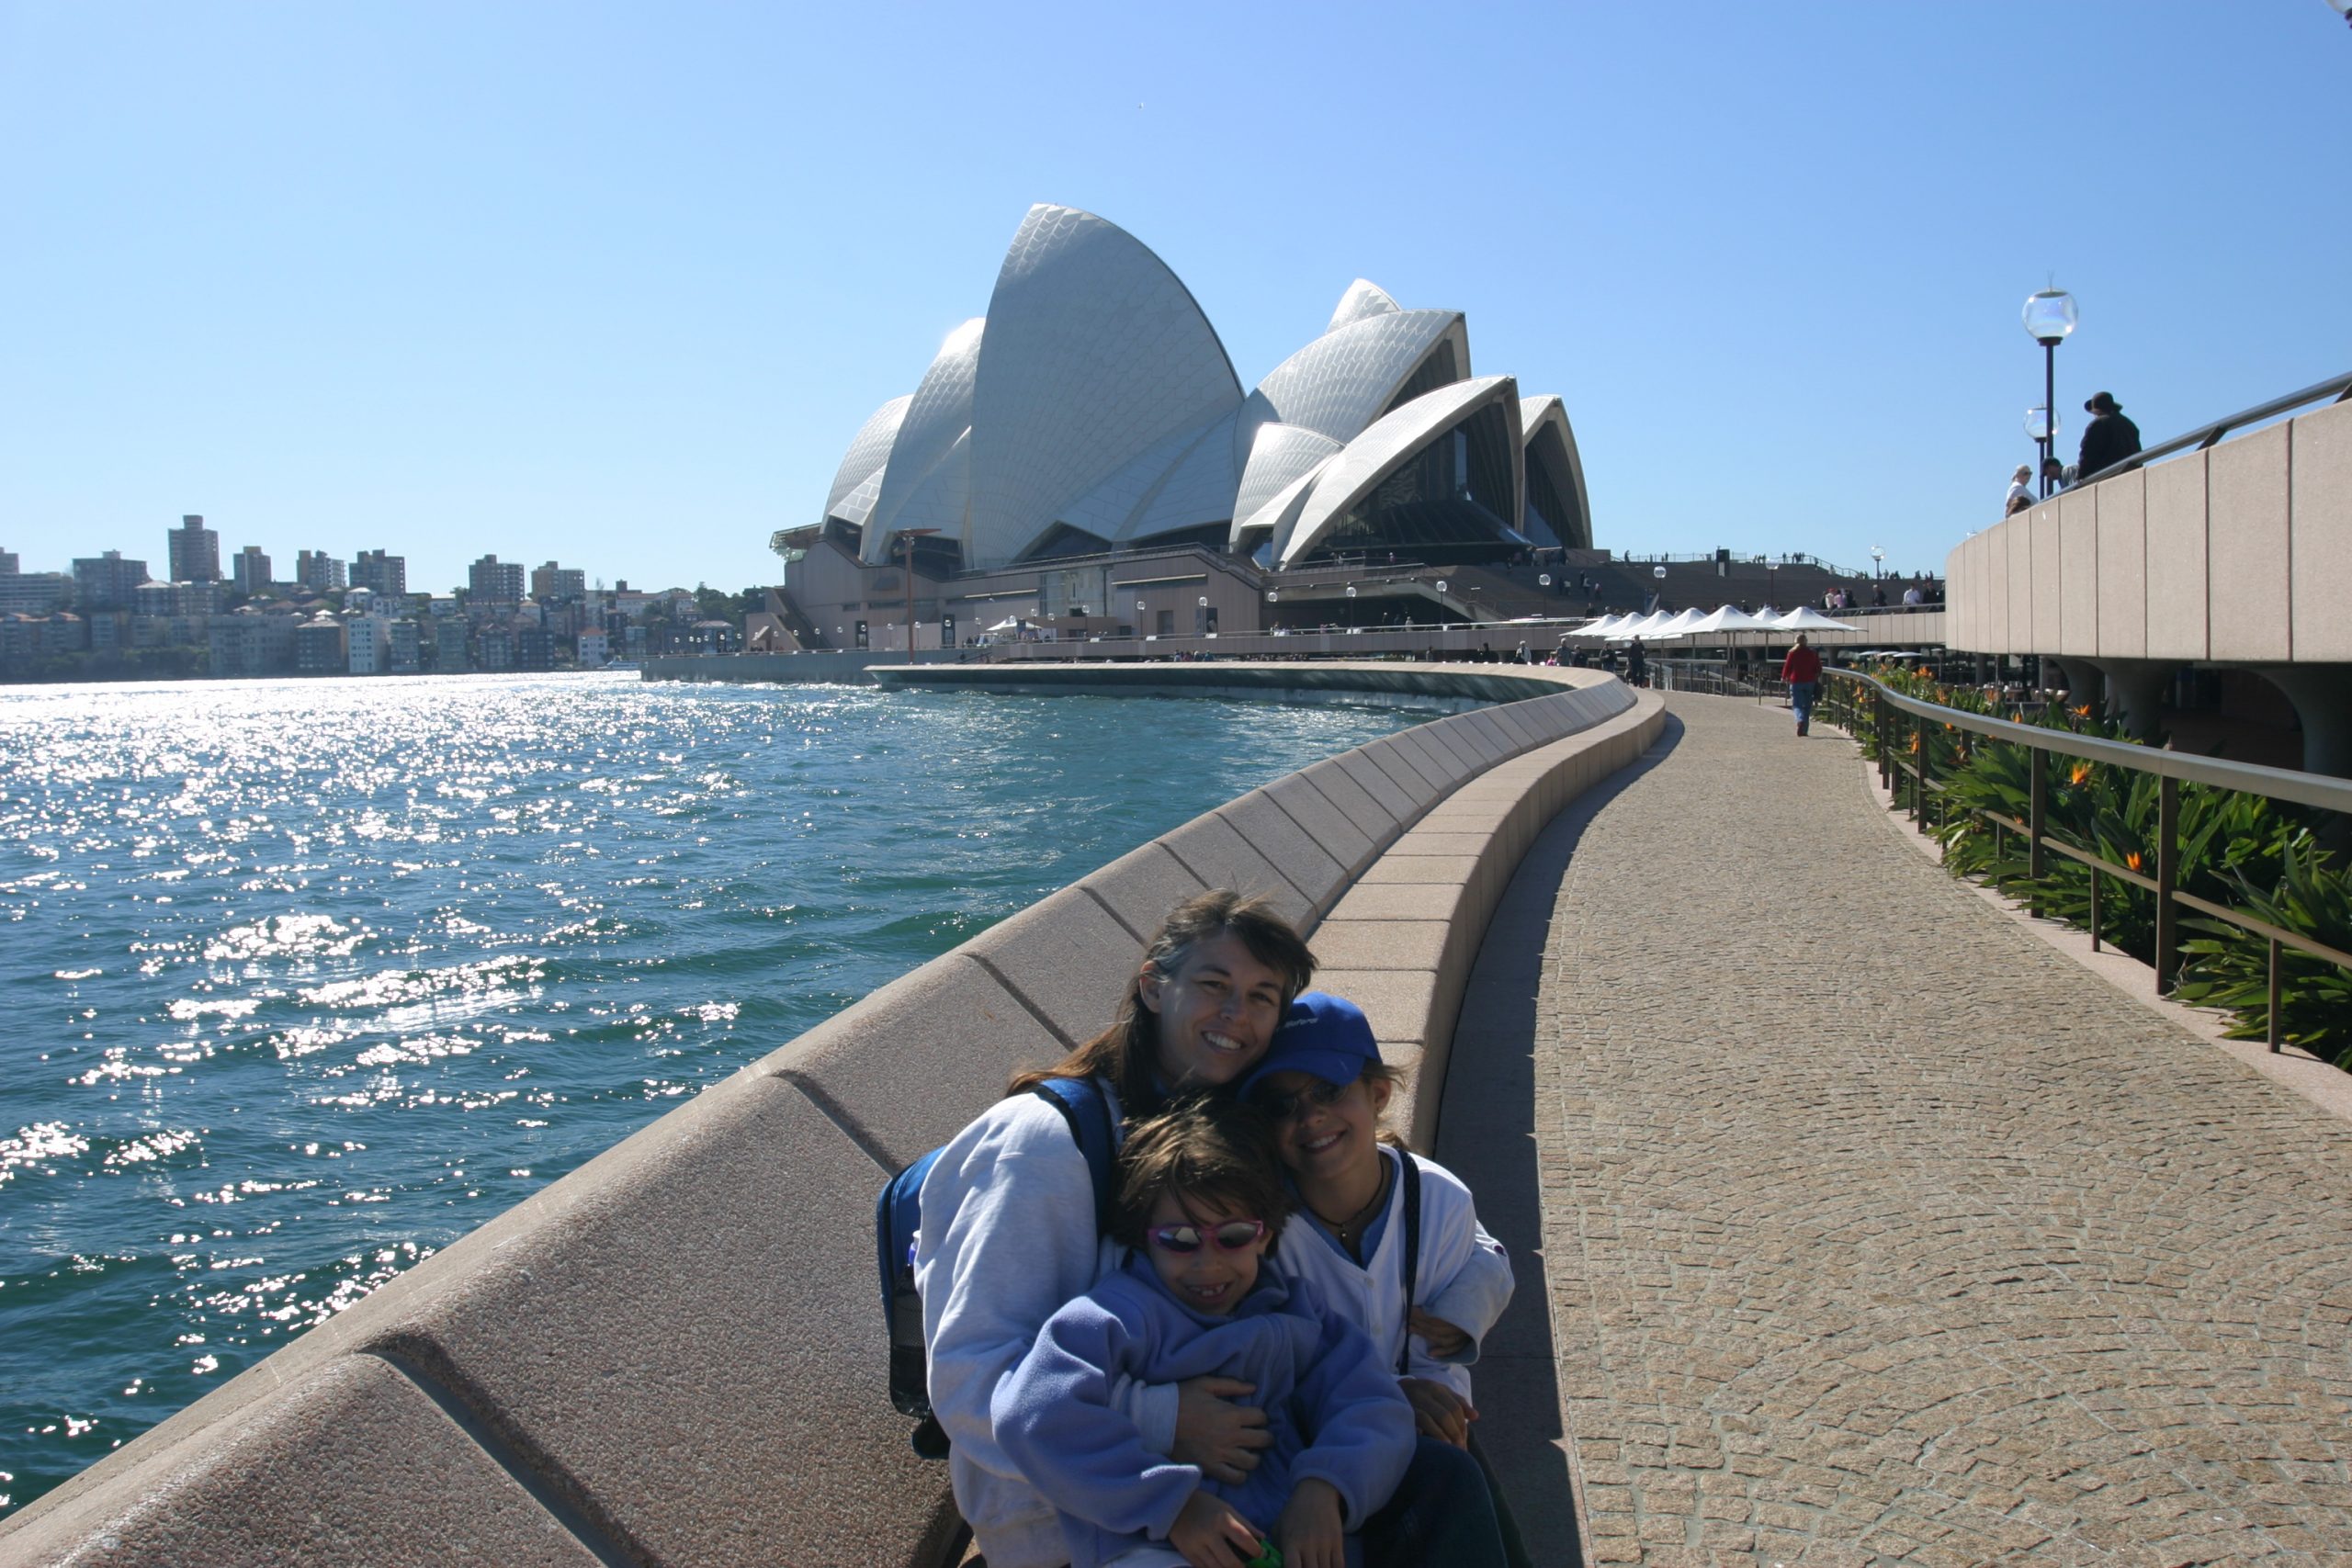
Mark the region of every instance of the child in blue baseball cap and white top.
POLYGON ((1423 1436, 1477 1458, 1505 1556, 1524 1561, 1494 1472, 1470 1443, 1470 1363, 1510 1305, 1510 1258, 1477 1222, 1461 1178, 1383 1133, 1395 1072, 1364 1011, 1329 992, 1301 994, 1242 1093, 1272 1121, 1303 1211, 1282 1272, 1364 1328, 1423 1436))

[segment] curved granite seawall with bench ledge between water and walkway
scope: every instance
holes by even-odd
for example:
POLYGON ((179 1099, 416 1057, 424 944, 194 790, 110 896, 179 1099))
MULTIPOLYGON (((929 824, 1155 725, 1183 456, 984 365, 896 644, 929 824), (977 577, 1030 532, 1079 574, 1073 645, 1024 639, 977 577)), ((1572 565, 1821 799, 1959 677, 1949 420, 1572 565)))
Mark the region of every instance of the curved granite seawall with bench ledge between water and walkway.
POLYGON ((0 1563, 929 1568, 955 1514, 882 1392, 880 1182, 1098 1030, 1204 886, 1310 931, 1418 1067, 1397 1119, 1425 1145, 1512 867, 1663 724, 1597 672, 1503 679, 1512 701, 1251 790, 710 1086, 28 1505, 0 1563))

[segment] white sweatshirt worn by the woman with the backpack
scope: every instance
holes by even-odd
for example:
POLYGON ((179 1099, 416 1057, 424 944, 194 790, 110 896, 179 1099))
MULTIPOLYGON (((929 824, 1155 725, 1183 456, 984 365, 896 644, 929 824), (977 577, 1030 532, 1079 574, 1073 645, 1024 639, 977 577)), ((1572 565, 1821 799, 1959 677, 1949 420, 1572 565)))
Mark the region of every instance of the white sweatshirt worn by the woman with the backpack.
MULTIPOLYGON (((1096 1079, 1120 1124, 1120 1100, 1096 1079)), ((1009 1095, 957 1133, 922 1182, 915 1288, 931 1361, 931 1413, 955 1443, 948 1474, 988 1568, 1058 1568, 1070 1544, 1004 1455, 988 1401, 1063 1302, 1120 1265, 1094 1232, 1094 1175, 1070 1124, 1040 1095, 1009 1095)), ((1122 1385, 1120 1403, 1157 1453, 1176 1443, 1176 1385, 1122 1385)))

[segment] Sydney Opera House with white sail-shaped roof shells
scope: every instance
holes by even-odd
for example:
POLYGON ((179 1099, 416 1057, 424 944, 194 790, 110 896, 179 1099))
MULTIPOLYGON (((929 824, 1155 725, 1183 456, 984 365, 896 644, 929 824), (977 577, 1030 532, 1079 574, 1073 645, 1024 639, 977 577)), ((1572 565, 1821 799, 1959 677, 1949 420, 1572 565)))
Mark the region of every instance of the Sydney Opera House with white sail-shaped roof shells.
POLYGON ((1559 397, 1472 374, 1458 310, 1409 310, 1357 280, 1319 336, 1244 390, 1160 256, 1037 205, 988 315, 866 418, 821 520, 774 545, 800 642, 847 646, 849 621, 880 628, 903 595, 931 646, 1000 609, 1127 623, 1120 571, 1131 581, 1148 555, 1195 557, 1197 574, 1167 581, 1240 609, 1317 562, 1590 550, 1592 522, 1559 397))

